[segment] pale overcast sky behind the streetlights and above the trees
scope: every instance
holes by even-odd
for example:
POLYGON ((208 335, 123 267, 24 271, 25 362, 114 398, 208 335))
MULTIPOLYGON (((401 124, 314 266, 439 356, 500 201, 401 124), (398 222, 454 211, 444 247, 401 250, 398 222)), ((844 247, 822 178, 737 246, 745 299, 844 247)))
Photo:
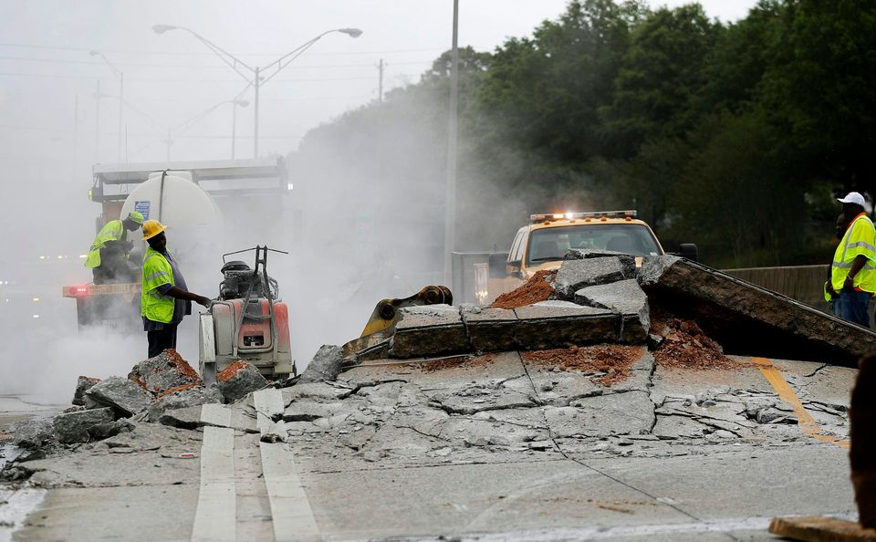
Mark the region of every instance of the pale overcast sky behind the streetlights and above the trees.
MULTIPOLYGON (((704 2, 710 16, 723 20, 745 16, 753 4, 704 2)), ((451 0, 5 0, 0 5, 2 152, 24 160, 46 153, 72 157, 76 151, 80 166, 116 161, 119 80, 100 57, 89 56, 94 49, 125 76, 123 160, 125 155, 130 162, 163 160, 168 127, 173 159, 230 158, 231 104, 185 129, 182 125, 235 98, 245 80, 193 36, 182 31, 160 36, 151 26, 190 27, 251 66, 264 66, 325 30, 361 28, 358 39, 325 36, 262 89, 260 151, 283 154, 309 128, 375 99, 381 58, 384 89, 416 82, 450 45, 452 5, 451 0), (103 99, 96 138, 98 80, 103 99)), ((565 5, 566 0, 463 0, 460 44, 491 50, 508 36, 530 34, 565 5)), ((246 90, 243 99, 252 98, 252 90, 246 90)), ((236 156, 246 158, 253 152, 252 103, 237 113, 236 156)))

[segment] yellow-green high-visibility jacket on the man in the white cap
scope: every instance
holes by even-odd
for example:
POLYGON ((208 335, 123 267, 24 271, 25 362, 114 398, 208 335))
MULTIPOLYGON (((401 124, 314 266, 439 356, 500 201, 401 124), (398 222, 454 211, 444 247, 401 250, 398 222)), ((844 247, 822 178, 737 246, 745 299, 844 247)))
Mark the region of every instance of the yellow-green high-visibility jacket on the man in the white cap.
POLYGON ((854 287, 865 292, 876 292, 876 228, 866 213, 861 213, 849 224, 842 236, 837 252, 830 266, 830 286, 840 291, 852 262, 859 255, 867 258, 867 263, 854 277, 854 287))

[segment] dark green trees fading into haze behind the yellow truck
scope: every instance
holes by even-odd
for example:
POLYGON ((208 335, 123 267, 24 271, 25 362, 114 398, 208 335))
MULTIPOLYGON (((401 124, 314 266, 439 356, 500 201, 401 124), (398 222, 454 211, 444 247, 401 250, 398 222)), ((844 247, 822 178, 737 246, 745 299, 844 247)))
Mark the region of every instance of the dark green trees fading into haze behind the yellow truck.
MULTIPOLYGON (((462 249, 501 247, 528 213, 635 208, 713 266, 826 263, 835 196, 876 196, 871 1, 761 0, 723 23, 698 4, 572 0, 459 56, 462 249)), ((311 130, 292 162, 328 147, 389 193, 437 201, 450 68, 446 52, 311 130)))

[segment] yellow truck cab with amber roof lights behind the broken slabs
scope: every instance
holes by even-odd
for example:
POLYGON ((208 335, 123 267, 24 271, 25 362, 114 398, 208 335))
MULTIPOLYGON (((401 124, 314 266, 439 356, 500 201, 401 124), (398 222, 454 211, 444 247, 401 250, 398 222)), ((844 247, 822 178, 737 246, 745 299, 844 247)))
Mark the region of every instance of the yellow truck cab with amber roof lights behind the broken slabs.
MULTIPOLYGON (((569 249, 622 254, 664 255, 651 226, 636 211, 532 214, 517 230, 511 250, 491 255, 486 269, 475 271, 479 304, 510 292, 538 271, 558 269, 569 249)), ((696 259, 695 245, 682 245, 681 255, 696 259)))

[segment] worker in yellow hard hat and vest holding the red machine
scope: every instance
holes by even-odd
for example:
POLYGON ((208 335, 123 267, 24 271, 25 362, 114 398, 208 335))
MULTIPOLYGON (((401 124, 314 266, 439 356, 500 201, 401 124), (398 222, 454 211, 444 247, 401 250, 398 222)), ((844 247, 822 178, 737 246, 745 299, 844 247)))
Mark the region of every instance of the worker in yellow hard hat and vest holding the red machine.
POLYGON ((166 225, 157 220, 143 224, 143 239, 149 243, 143 255, 141 315, 149 340, 149 357, 176 349, 176 329, 183 316, 192 314, 192 302, 210 306, 210 299, 188 291, 176 260, 167 251, 166 225))

